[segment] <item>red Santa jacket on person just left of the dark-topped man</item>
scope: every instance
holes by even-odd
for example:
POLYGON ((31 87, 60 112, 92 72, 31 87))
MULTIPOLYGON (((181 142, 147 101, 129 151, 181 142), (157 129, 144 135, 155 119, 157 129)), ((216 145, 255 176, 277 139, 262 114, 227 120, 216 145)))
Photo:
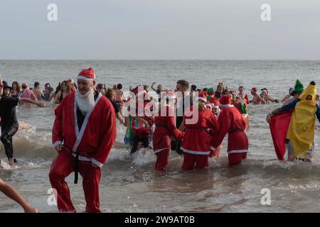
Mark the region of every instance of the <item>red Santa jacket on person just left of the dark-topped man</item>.
POLYGON ((172 109, 172 107, 166 106, 165 116, 161 116, 161 110, 159 110, 159 116, 154 117, 154 123, 156 124, 156 129, 152 137, 154 153, 170 149, 171 137, 176 140, 182 140, 183 133, 176 128, 174 109, 172 109))

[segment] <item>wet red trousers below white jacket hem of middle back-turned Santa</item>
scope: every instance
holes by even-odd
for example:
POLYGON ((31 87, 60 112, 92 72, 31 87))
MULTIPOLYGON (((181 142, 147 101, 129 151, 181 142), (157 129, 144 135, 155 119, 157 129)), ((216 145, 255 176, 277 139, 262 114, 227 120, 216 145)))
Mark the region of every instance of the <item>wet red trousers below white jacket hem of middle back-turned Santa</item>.
POLYGON ((193 155, 189 153, 183 153, 183 156, 183 170, 193 170, 195 165, 196 169, 204 169, 209 166, 208 155, 193 155))

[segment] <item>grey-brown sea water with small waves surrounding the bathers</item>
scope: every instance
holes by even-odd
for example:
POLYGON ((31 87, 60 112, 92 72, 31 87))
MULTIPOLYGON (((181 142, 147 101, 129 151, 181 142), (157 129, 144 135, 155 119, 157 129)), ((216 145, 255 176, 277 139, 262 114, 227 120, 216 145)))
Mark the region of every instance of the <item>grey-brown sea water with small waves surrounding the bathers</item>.
MULTIPOLYGON (((236 89, 267 87, 277 99, 287 93, 295 79, 306 84, 319 82, 320 62, 286 61, 0 61, 0 71, 8 82, 18 80, 57 84, 75 78, 84 67, 96 70, 98 82, 132 84, 161 82, 173 89, 177 79, 188 79, 198 87, 213 87, 219 81, 236 89)), ((248 92, 249 93, 249 92, 248 92)), ((218 160, 210 160, 208 170, 182 171, 183 158, 171 153, 166 172, 155 172, 152 150, 131 157, 122 145, 125 128, 117 128, 117 143, 102 168, 100 201, 103 212, 318 212, 320 201, 319 123, 316 122, 315 161, 280 162, 276 159, 266 114, 279 104, 250 106, 250 154, 237 167, 228 167, 226 144, 218 160), (262 206, 261 190, 270 189, 271 205, 262 206)), ((50 145, 53 110, 18 106, 18 120, 26 127, 14 137, 18 165, 1 170, 0 177, 14 185, 43 212, 56 212, 48 205, 48 171, 55 157, 50 145)), ((0 146, 0 158, 5 160, 0 146)), ((67 178, 78 211, 85 209, 81 184, 67 178)), ((81 182, 81 181, 80 181, 81 182)), ((13 201, 0 194, 0 212, 22 212, 13 201)))

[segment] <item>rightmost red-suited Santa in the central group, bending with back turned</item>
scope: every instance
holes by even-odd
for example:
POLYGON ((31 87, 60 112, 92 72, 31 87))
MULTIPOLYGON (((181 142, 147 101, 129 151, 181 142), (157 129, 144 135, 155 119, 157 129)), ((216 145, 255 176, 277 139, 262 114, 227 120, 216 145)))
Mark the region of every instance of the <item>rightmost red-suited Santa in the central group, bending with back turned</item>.
POLYGON ((221 113, 218 118, 220 131, 217 136, 210 140, 211 149, 215 151, 223 142, 223 138, 228 133, 228 159, 229 165, 238 165, 242 159, 247 157, 249 142, 245 134, 245 121, 242 115, 231 105, 229 95, 220 98, 221 113))

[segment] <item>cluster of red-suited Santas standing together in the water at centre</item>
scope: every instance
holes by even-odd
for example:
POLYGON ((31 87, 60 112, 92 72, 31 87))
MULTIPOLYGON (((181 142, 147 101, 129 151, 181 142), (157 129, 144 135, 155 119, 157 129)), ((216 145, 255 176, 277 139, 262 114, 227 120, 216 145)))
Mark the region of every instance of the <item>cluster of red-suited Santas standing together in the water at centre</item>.
MULTIPOLYGON (((137 99, 143 97, 143 93, 139 94, 137 91, 134 93, 137 94, 137 99)), ((183 114, 183 129, 181 131, 176 128, 174 121, 173 106, 176 99, 174 92, 166 91, 161 96, 157 116, 142 116, 140 113, 140 116, 134 117, 136 121, 132 121, 134 131, 132 152, 137 150, 139 142, 144 143, 144 147, 146 147, 151 124, 154 123, 156 128, 152 140, 156 155, 155 170, 166 170, 169 163, 171 138, 182 140, 183 170, 208 167, 208 158, 220 155, 221 144, 227 133, 229 165, 238 165, 247 157, 246 123, 240 111, 231 104, 230 94, 222 94, 220 98, 217 98, 214 94, 198 92, 198 95, 193 97, 193 105, 189 106, 183 114), (198 120, 190 123, 191 121, 188 120, 193 118, 195 111, 197 111, 198 120)), ((143 106, 146 106, 148 101, 142 103, 143 106)))

